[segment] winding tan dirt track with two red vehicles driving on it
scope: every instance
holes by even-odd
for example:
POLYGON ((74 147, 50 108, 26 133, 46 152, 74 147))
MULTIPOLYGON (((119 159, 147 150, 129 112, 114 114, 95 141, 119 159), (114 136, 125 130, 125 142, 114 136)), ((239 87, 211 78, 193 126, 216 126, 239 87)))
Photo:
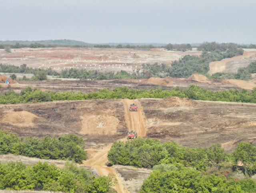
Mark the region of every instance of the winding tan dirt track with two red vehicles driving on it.
MULTIPOLYGON (((138 136, 144 137, 146 135, 146 118, 143 114, 143 109, 140 102, 134 100, 123 100, 124 104, 124 118, 128 127, 128 130, 134 130, 138 133, 138 136), (130 104, 135 103, 138 105, 138 112, 130 112, 130 104)), ((120 139, 120 141, 125 141, 126 138, 120 139)), ((124 187, 122 179, 118 176, 116 170, 113 167, 106 166, 108 162, 108 151, 110 150, 112 144, 109 144, 102 150, 99 150, 91 156, 89 160, 86 160, 82 165, 91 166, 98 171, 100 175, 112 174, 117 179, 115 189, 118 193, 128 193, 129 191, 124 187)))

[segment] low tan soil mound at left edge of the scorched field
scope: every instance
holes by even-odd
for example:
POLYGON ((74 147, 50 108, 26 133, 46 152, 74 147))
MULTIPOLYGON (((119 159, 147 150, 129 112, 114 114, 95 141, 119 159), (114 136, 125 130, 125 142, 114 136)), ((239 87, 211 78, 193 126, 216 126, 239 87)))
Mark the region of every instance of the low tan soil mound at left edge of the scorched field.
POLYGON ((20 127, 34 126, 34 119, 38 118, 36 115, 26 110, 12 111, 5 114, 1 120, 2 123, 8 123, 20 127))

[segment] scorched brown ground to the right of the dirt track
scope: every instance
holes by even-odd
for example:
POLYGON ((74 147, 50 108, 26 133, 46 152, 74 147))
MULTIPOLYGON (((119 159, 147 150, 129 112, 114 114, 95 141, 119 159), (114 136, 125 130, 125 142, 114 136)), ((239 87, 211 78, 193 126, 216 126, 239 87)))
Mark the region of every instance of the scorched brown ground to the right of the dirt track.
POLYGON ((190 147, 220 143, 227 152, 240 141, 256 144, 256 104, 183 100, 140 100, 146 116, 146 137, 190 147))

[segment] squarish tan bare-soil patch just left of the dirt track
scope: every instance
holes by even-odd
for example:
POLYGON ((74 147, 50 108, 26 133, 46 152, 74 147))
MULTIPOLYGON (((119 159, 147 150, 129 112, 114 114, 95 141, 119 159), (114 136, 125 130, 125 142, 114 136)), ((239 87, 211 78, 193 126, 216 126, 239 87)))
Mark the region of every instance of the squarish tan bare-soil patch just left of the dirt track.
POLYGON ((84 115, 80 118, 82 119, 81 134, 116 134, 117 126, 120 122, 114 116, 84 115))

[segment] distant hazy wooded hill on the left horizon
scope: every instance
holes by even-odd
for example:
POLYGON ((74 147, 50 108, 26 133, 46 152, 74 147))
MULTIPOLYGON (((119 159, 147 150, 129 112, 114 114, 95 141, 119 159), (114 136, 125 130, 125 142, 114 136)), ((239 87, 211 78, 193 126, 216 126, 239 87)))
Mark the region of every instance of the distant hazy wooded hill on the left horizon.
POLYGON ((0 41, 2 44, 9 44, 9 45, 15 45, 16 43, 20 44, 32 44, 32 43, 40 43, 43 45, 81 45, 81 46, 90 46, 94 45, 92 43, 85 43, 84 41, 76 41, 71 39, 56 39, 56 40, 40 40, 40 41, 21 41, 21 40, 6 40, 6 41, 0 41))

